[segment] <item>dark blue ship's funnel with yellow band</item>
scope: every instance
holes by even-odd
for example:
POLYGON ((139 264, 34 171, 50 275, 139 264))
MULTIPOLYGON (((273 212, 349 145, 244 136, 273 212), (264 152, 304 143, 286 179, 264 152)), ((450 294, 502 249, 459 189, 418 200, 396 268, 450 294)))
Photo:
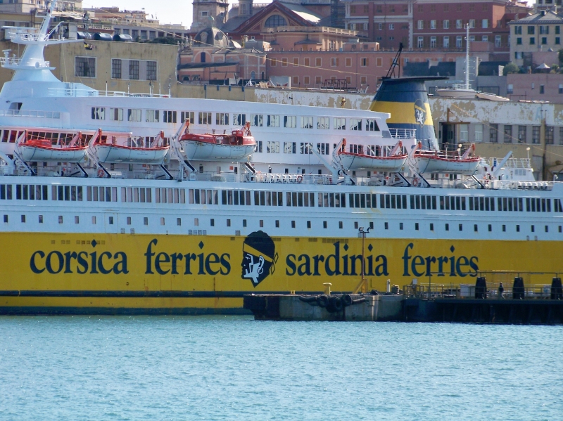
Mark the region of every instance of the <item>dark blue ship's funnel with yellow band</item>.
POLYGON ((388 112, 390 129, 416 129, 423 149, 438 149, 432 114, 428 103, 426 80, 447 77, 384 77, 369 110, 388 112))

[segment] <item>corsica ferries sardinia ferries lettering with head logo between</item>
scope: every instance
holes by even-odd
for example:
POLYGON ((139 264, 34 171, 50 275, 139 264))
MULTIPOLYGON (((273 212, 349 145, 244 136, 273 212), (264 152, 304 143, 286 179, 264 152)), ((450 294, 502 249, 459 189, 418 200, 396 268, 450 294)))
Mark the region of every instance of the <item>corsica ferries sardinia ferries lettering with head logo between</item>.
MULTIPOLYGON (((95 249, 96 241, 91 242, 95 249)), ((211 275, 227 276, 231 273, 231 256, 228 253, 205 252, 203 241, 198 243, 201 252, 180 253, 161 250, 158 240, 146 245, 144 273, 146 275, 211 275), (159 250, 160 249, 160 250, 159 250)), ((348 253, 348 245, 334 242, 329 254, 287 254, 286 276, 359 276, 362 271, 362 255, 348 253)), ((365 273, 367 276, 389 276, 388 258, 384 254, 372 254, 374 247, 367 247, 365 273)), ((351 251, 351 250, 350 250, 351 251)), ((424 255, 415 250, 410 242, 403 256, 403 276, 476 276, 479 259, 476 256, 457 255, 455 247, 441 256, 424 255)), ((257 231, 248 235, 243 243, 241 277, 250 279, 254 286, 274 274, 277 252, 267 234, 257 231)), ((42 251, 30 257, 33 273, 76 273, 127 275, 129 266, 125 252, 102 250, 42 251)))

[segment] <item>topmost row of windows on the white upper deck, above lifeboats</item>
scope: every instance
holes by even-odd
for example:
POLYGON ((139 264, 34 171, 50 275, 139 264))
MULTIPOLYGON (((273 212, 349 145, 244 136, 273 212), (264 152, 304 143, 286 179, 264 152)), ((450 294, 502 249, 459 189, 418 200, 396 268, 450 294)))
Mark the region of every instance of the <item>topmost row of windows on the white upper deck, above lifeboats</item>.
MULTIPOLYGON (((128 122, 142 122, 143 110, 140 108, 108 108, 108 116, 110 120, 122 121, 126 119, 128 122)), ((176 123, 177 111, 168 110, 144 110, 146 122, 160 122, 160 115, 162 113, 162 121, 164 123, 176 123)), ((190 124, 196 124, 196 113, 194 111, 180 111, 180 122, 188 120, 190 124)), ((197 124, 213 124, 212 112, 198 112, 197 124)), ((103 120, 106 119, 106 107, 92 107, 91 119, 103 120)), ((332 119, 332 128, 335 130, 346 130, 346 120, 349 122, 349 128, 353 131, 361 131, 365 127, 365 131, 379 131, 377 121, 375 119, 366 119, 365 125, 362 124, 361 118, 334 117, 332 119)), ((215 124, 217 126, 243 126, 246 122, 250 122, 253 127, 286 127, 288 129, 313 129, 315 127, 315 117, 295 115, 262 115, 262 114, 239 114, 236 112, 216 112, 215 124), (281 117, 281 118, 280 118, 281 117)), ((317 129, 328 130, 330 129, 330 117, 316 117, 317 129)))

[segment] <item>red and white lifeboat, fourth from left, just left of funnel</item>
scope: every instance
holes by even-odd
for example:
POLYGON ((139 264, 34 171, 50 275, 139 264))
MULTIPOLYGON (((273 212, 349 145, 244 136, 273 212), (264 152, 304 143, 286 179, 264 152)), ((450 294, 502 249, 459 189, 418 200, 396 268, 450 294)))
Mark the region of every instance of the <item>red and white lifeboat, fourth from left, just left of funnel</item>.
MULTIPOLYGON (((346 146, 346 139, 343 140, 342 145, 346 146)), ((402 150, 403 143, 398 141, 387 156, 365 155, 344 150, 339 151, 338 156, 346 171, 367 169, 369 171, 400 172, 408 157, 406 153, 402 153, 402 150)))

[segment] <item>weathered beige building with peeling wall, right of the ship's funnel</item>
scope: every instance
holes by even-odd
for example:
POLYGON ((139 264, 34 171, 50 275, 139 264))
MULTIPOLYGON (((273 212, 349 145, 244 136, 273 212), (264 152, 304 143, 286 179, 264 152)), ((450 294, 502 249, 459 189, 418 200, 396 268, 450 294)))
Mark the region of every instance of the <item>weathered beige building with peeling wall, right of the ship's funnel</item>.
POLYGON ((476 144, 482 157, 530 157, 534 175, 563 171, 563 104, 430 98, 438 142, 476 144))

